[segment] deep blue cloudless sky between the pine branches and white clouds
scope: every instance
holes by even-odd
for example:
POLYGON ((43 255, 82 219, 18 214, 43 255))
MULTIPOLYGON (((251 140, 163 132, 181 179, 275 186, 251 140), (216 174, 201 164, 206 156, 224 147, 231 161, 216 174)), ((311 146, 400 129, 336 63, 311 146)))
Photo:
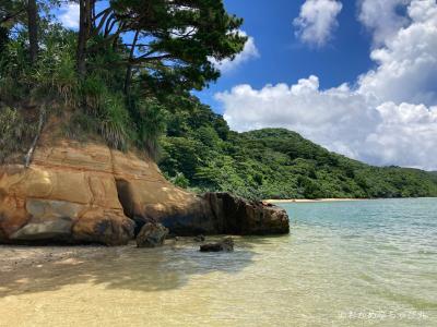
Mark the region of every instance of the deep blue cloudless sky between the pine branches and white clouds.
POLYGON ((371 35, 357 21, 355 1, 343 1, 339 27, 332 41, 322 48, 303 45, 295 36, 293 20, 305 1, 226 0, 229 13, 244 17, 241 27, 255 38, 260 56, 239 64, 197 95, 217 112, 223 112, 214 94, 238 84, 260 88, 265 84, 294 83, 316 74, 320 86, 329 88, 354 83, 374 63, 369 59, 371 35))

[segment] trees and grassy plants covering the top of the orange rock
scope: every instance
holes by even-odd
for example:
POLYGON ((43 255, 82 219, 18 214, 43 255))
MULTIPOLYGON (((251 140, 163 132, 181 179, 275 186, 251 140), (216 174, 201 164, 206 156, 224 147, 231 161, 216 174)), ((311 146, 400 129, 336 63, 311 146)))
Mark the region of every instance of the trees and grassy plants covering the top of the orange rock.
POLYGON ((0 114, 10 108, 37 123, 45 112, 64 136, 118 149, 155 156, 163 112, 215 81, 212 62, 234 58, 247 39, 220 0, 71 1, 79 31, 54 17, 62 2, 0 1, 0 114))

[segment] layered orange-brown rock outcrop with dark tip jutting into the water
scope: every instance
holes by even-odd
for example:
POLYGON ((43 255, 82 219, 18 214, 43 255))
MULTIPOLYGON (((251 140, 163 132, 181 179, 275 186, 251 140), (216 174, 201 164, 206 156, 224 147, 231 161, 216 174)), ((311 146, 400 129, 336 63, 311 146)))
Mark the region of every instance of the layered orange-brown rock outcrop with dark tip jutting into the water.
POLYGON ((277 234, 275 206, 227 193, 203 196, 167 182, 150 159, 101 144, 37 147, 32 165, 0 166, 0 243, 121 245, 150 222, 175 235, 277 234))

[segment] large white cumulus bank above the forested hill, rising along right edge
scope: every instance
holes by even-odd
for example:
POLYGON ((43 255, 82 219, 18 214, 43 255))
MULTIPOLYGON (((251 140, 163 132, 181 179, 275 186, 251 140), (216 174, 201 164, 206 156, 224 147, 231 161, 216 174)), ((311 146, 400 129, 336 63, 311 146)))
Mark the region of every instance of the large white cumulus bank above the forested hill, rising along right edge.
POLYGON ((281 126, 330 150, 374 165, 437 169, 437 3, 413 0, 409 25, 374 49, 375 70, 320 89, 310 76, 293 85, 238 85, 216 99, 238 131, 281 126))

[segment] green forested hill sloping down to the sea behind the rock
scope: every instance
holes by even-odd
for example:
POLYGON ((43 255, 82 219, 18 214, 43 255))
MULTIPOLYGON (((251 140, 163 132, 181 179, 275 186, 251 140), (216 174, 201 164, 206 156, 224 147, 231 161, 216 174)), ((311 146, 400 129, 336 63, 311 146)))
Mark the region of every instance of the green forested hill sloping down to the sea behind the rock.
POLYGON ((202 105, 169 116, 162 146, 162 170, 198 191, 249 198, 437 196, 436 173, 371 167, 283 129, 236 133, 202 105))

